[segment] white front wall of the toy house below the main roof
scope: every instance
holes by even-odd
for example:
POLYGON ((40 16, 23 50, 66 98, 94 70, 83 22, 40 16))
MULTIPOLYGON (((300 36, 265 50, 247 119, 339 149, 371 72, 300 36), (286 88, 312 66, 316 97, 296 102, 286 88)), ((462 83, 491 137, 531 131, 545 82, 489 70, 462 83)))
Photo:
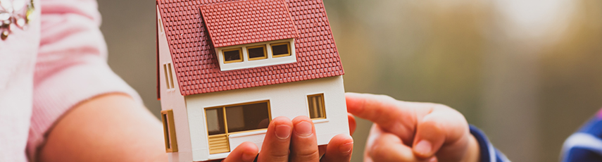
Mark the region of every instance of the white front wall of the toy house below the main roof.
MULTIPOLYGON (((318 144, 321 145, 328 144, 334 135, 349 134, 342 76, 185 96, 194 161, 227 156, 209 155, 204 108, 270 100, 272 118, 286 116, 292 120, 296 116, 309 116, 307 95, 320 93, 324 94, 327 119, 314 120, 314 123, 318 144)), ((232 136, 231 151, 244 141, 255 142, 261 147, 265 130, 232 136)))

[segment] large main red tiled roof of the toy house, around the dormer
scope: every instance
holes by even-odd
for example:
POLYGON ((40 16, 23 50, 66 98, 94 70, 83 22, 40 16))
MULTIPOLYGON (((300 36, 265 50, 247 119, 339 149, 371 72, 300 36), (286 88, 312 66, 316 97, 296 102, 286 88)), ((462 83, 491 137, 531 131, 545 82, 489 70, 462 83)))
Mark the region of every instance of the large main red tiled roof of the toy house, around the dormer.
POLYGON ((299 32, 299 37, 295 39, 296 63, 220 71, 199 8, 230 1, 158 1, 182 95, 275 85, 344 74, 321 0, 285 2, 299 32))

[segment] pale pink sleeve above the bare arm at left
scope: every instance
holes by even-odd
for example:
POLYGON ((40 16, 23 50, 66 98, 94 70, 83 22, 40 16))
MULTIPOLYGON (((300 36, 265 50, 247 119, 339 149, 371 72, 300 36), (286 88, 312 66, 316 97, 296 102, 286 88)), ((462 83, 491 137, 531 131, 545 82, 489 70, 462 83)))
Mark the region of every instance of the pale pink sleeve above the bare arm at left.
POLYGON ((27 155, 37 150, 56 121, 70 108, 94 96, 137 92, 106 63, 107 49, 99 29, 94 0, 42 0, 41 38, 35 65, 33 109, 27 155))

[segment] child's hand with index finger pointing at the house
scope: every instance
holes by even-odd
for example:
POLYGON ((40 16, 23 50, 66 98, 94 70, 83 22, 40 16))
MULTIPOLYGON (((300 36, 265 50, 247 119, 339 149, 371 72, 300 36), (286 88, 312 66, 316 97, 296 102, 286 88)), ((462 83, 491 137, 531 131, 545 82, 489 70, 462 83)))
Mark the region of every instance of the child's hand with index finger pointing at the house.
POLYGON ((458 111, 389 96, 346 94, 347 111, 375 123, 364 161, 477 161, 479 146, 458 111))

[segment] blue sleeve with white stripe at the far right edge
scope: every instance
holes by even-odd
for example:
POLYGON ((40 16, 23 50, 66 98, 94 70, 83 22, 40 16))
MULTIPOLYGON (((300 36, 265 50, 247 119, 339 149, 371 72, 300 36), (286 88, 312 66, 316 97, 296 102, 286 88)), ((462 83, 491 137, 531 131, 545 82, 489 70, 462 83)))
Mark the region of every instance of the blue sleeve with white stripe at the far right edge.
POLYGON ((563 144, 562 161, 602 161, 602 111, 563 144))

